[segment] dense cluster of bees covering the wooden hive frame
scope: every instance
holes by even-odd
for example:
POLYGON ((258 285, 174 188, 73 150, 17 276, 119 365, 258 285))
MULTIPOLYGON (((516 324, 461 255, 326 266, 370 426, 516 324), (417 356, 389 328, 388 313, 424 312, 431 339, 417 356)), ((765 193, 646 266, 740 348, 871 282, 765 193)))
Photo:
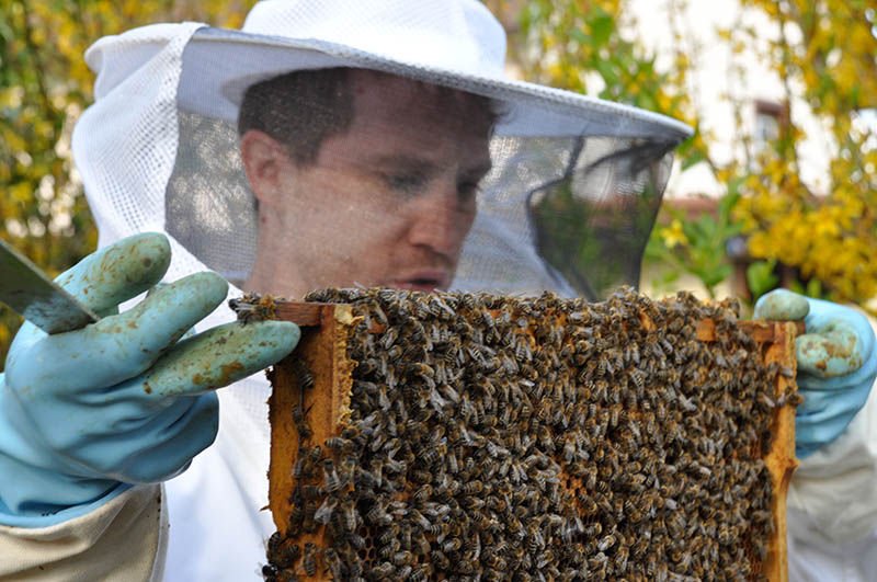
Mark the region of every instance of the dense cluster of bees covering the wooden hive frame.
MULTIPOLYGON (((329 289, 351 416, 299 453, 267 580, 747 580, 774 530, 777 375, 734 305, 329 289), (696 339, 701 320, 716 340, 696 339), (643 324, 643 321, 650 324, 643 324), (322 528, 328 546, 299 537, 322 528)), ((301 366, 299 384, 312 385, 301 366)))

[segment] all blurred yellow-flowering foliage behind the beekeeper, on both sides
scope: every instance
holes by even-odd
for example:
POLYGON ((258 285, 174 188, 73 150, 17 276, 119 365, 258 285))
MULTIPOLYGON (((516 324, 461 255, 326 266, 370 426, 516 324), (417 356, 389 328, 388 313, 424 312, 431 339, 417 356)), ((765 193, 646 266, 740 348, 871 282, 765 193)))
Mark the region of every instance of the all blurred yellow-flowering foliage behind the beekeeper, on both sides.
MULTIPOLYGON (((783 80, 786 106, 804 99, 831 128, 836 151, 824 192, 810 192, 797 178, 806 134, 790 111, 766 148, 755 148, 742 132, 738 111, 745 155, 716 160, 714 136, 701 130, 703 105, 690 96, 694 55, 674 22, 685 0, 670 0, 667 22, 636 14, 629 0, 485 0, 509 30, 509 56, 521 77, 663 113, 695 128, 677 149, 676 171, 706 164, 725 194, 715 210, 698 216, 665 205, 647 260, 661 262, 668 279, 694 275, 711 295, 731 275, 726 247, 742 235, 745 298, 783 283, 864 305, 877 295, 877 136, 856 116, 877 107, 873 0, 737 1, 762 12, 779 34, 765 43, 751 27, 730 26, 720 31, 721 42, 734 53, 759 50, 783 80), (672 66, 659 70, 656 55, 630 34, 642 25, 670 27, 672 66)), ((72 125, 91 101, 93 75, 82 58, 91 43, 153 22, 237 27, 252 3, 0 3, 0 236, 52 275, 95 248, 70 156, 72 125)), ((0 306, 0 362, 18 326, 18 316, 0 306)))

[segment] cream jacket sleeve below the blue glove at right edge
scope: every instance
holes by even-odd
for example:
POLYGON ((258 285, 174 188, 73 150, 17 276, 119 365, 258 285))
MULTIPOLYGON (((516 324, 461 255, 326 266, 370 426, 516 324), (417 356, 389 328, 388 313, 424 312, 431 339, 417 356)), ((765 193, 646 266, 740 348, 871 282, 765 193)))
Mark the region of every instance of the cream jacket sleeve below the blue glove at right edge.
POLYGON ((788 490, 790 536, 824 546, 877 529, 876 391, 836 441, 801 459, 788 490))

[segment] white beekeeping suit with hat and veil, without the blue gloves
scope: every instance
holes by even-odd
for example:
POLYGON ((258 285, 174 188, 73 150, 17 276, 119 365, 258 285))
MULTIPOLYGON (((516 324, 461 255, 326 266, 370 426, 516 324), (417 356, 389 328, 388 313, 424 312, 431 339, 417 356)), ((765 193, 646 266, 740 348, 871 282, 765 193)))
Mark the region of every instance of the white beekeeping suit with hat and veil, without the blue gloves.
MULTIPOLYGON (((636 284, 672 150, 690 128, 642 110, 508 79, 504 53, 500 24, 480 3, 464 0, 360 0, 343 7, 266 0, 241 31, 159 24, 103 38, 87 53, 98 75, 95 103, 73 136, 100 246, 164 232, 172 250, 168 281, 212 270, 235 284, 230 296, 240 295, 263 243, 238 152, 243 95, 291 71, 343 67, 497 104, 492 168, 481 181, 478 214, 452 288, 551 289, 596 300, 618 284, 636 284), (570 217, 574 229, 557 228, 570 217)), ((310 210, 301 208, 306 216, 310 210)), ((340 216, 344 208, 334 212, 340 216)), ((365 231, 394 217, 362 218, 365 231)), ((317 247, 330 261, 348 252, 342 238, 355 246, 357 237, 366 235, 333 231, 317 247)), ((305 290, 333 283, 311 281, 305 290)), ((272 292, 289 296, 300 289, 272 292)), ((232 319, 221 307, 200 329, 232 319)), ((215 444, 164 483, 163 498, 159 486, 133 488, 91 514, 47 528, 41 539, 77 538, 70 568, 84 579, 90 564, 103 568, 121 556, 114 552, 122 545, 139 551, 125 555, 121 580, 260 578, 265 540, 274 530, 262 510, 269 393, 262 375, 220 390, 215 444), (123 527, 118 516, 125 512, 130 517, 123 527)), ((877 526, 873 409, 869 404, 841 440, 808 458, 793 480, 794 578, 839 578, 841 568, 853 580, 877 571, 867 552, 877 526)), ((33 552, 49 560, 32 534, 0 527, 0 548, 14 547, 22 563, 38 561, 33 552)))

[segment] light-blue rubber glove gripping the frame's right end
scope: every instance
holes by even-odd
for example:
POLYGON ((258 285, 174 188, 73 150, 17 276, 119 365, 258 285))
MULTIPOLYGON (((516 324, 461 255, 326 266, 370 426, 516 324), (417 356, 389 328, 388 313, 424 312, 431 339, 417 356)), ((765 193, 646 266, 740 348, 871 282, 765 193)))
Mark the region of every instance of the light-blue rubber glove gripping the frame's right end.
POLYGON ((755 304, 758 319, 804 319, 795 340, 798 393, 795 449, 811 455, 841 435, 865 406, 877 377, 877 350, 868 320, 850 307, 777 289, 755 304))

